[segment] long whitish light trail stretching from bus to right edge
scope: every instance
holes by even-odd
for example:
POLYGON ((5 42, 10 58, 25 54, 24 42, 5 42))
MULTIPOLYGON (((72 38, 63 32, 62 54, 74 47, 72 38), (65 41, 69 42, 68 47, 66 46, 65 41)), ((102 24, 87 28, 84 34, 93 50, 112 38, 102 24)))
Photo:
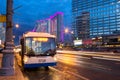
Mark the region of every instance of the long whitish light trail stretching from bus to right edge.
POLYGON ((113 53, 85 52, 85 51, 60 51, 60 50, 58 50, 57 52, 62 54, 74 54, 74 55, 80 55, 84 57, 92 57, 96 59, 120 61, 120 55, 115 56, 113 55, 113 53))

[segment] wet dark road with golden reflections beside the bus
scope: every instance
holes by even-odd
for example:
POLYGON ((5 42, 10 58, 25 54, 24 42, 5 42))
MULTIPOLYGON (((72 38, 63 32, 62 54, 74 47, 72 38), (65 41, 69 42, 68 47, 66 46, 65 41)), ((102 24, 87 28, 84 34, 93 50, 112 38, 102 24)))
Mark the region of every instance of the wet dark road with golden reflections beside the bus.
POLYGON ((120 62, 57 54, 57 66, 26 69, 25 80, 120 80, 120 62))

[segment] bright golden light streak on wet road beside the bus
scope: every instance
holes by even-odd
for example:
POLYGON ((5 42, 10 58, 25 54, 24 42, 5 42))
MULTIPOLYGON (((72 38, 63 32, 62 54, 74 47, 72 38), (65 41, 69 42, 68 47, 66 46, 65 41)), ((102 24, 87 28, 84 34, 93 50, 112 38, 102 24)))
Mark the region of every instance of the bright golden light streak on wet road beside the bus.
POLYGON ((100 64, 84 62, 84 61, 80 60, 81 57, 79 57, 79 56, 74 56, 74 57, 72 56, 71 57, 71 56, 66 56, 66 54, 58 54, 57 56, 58 56, 57 59, 59 62, 66 63, 69 65, 77 65, 77 66, 87 65, 87 66, 93 67, 94 69, 101 69, 101 70, 108 70, 108 71, 111 70, 110 68, 105 67, 105 66, 100 65, 100 64))

